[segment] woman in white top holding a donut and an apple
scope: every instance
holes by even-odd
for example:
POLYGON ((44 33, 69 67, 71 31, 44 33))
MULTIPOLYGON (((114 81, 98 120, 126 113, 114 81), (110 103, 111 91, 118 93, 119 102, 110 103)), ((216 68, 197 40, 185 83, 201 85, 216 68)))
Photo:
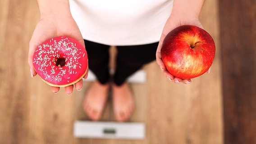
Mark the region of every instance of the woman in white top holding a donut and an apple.
MULTIPOLYGON (((37 0, 41 19, 29 45, 28 63, 32 77, 37 73, 32 55, 42 42, 55 36, 70 36, 85 45, 89 68, 96 74, 87 90, 84 110, 99 120, 108 90, 112 90, 114 115, 126 121, 133 112, 133 94, 126 78, 146 63, 155 60, 163 74, 175 83, 191 82, 171 75, 160 56, 162 41, 174 28, 190 24, 202 27, 198 20, 204 0, 37 0), (116 71, 110 77, 108 49, 118 49, 116 71)), ((87 78, 87 75, 84 76, 87 78)), ((82 80, 75 84, 82 89, 82 80)), ((51 87, 54 93, 59 87, 51 87)), ((65 87, 70 95, 73 85, 65 87)))

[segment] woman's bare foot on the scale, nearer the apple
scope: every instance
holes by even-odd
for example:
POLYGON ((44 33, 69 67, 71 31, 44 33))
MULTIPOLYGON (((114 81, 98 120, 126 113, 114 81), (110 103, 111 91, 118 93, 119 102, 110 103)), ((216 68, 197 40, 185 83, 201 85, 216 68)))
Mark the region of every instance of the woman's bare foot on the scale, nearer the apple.
POLYGON ((126 121, 134 109, 134 99, 128 83, 112 85, 114 115, 117 121, 126 121))

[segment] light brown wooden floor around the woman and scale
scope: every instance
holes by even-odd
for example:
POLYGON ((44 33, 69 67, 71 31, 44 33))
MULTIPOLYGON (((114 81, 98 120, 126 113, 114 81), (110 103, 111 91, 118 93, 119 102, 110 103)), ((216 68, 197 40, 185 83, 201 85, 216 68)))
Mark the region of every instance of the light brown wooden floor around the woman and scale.
MULTIPOLYGON (((39 20, 36 0, 0 0, 0 144, 223 144, 223 108, 217 0, 206 0, 201 23, 216 43, 210 74, 190 85, 174 84, 153 62, 145 84, 131 84, 136 110, 129 121, 146 124, 146 138, 78 139, 73 122, 88 120, 82 91, 53 94, 30 77, 28 43, 39 20)), ((102 121, 114 121, 111 104, 102 121)))

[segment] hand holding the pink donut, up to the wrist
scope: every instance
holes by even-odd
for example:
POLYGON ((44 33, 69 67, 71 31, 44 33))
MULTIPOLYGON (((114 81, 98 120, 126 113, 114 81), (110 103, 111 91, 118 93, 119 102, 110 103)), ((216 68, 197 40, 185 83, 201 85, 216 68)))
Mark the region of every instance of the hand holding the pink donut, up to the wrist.
MULTIPOLYGON (((40 21, 37 23, 37 26, 33 32, 32 38, 29 43, 29 52, 28 52, 28 64, 31 69, 31 76, 36 76, 37 72, 34 70, 32 58, 35 49, 38 45, 44 41, 56 37, 56 36, 69 36, 73 39, 78 40, 83 46, 84 41, 81 35, 81 32, 78 29, 77 24, 73 20, 70 13, 67 14, 46 14, 41 16, 40 21)), ((84 78, 87 78, 87 74, 84 78)), ((82 89, 82 79, 74 84, 77 90, 82 89)), ((59 87, 51 86, 51 90, 54 93, 58 93, 59 87)), ((73 85, 65 87, 66 94, 70 95, 73 92, 73 85)))

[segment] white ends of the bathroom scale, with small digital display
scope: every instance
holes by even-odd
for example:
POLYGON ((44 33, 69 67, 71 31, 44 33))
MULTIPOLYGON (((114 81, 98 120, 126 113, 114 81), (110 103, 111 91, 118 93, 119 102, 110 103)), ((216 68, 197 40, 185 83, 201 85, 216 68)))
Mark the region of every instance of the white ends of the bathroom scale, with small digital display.
MULTIPOLYGON (((113 73, 113 70, 110 71, 113 73)), ((95 75, 89 70, 87 79, 95 81, 95 75)), ((146 72, 139 70, 128 77, 129 83, 145 83, 146 72)), ((73 135, 77 138, 99 139, 144 139, 146 126, 142 122, 105 122, 75 121, 73 135)))

